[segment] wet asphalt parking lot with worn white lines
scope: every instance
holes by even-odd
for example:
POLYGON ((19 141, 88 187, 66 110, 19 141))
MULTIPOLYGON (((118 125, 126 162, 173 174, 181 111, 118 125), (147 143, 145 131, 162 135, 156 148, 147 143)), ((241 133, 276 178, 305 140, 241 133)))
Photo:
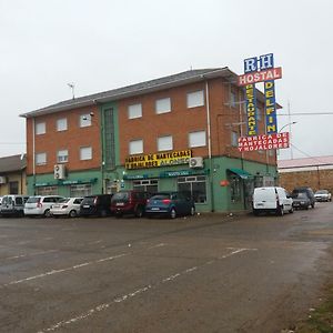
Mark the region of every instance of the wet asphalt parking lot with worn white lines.
POLYGON ((333 276, 332 213, 2 218, 0 332, 281 332, 333 276))

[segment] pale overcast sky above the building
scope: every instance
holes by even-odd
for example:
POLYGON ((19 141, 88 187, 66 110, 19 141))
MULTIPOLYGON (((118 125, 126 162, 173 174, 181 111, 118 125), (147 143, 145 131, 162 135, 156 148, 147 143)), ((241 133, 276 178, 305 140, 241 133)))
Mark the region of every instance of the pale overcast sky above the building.
POLYGON ((294 148, 333 155, 332 0, 0 0, 0 157, 26 151, 20 113, 190 68, 274 53, 294 148), (311 115, 296 115, 311 113, 311 115), (324 114, 329 113, 329 114, 324 114))

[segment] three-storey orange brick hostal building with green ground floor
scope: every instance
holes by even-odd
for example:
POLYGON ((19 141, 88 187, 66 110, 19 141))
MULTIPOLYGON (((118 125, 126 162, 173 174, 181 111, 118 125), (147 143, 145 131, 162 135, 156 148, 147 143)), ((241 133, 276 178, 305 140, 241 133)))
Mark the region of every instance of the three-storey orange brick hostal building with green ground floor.
POLYGON ((29 193, 184 190, 198 211, 249 208, 254 186, 276 181, 276 155, 238 151, 245 111, 235 82, 228 68, 191 70, 21 114, 29 193))

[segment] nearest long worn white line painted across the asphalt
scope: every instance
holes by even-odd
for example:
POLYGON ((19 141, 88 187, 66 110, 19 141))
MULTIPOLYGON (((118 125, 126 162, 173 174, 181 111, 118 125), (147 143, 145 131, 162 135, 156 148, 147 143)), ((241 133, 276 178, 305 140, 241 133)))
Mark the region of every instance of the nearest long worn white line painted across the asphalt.
MULTIPOLYGON (((234 254, 238 254, 238 253, 241 253, 241 252, 244 252, 244 251, 251 251, 251 250, 256 250, 256 249, 238 249, 238 250, 235 250, 235 251, 232 251, 232 252, 229 253, 229 254, 225 254, 225 255, 222 255, 222 256, 218 258, 216 260, 214 260, 214 262, 218 262, 218 261, 220 261, 220 260, 222 260, 222 259, 226 259, 226 258, 230 258, 230 256, 232 256, 232 255, 234 255, 234 254)), ((155 284, 148 284, 148 285, 145 285, 145 286, 142 286, 142 287, 135 290, 134 292, 131 292, 131 293, 124 294, 124 295, 122 295, 122 296, 115 297, 115 299, 113 299, 113 300, 112 300, 111 302, 109 302, 109 303, 103 303, 103 304, 97 305, 95 307, 90 309, 90 310, 88 310, 87 312, 81 313, 81 314, 79 314, 78 316, 74 316, 74 317, 72 317, 72 319, 70 319, 70 320, 60 321, 60 322, 58 322, 57 324, 53 324, 53 325, 51 325, 51 326, 48 327, 48 329, 43 329, 43 330, 39 331, 38 333, 52 332, 52 331, 56 331, 56 330, 58 330, 58 329, 60 329, 60 327, 67 326, 67 325, 69 325, 69 324, 71 324, 71 323, 75 323, 75 322, 78 322, 78 321, 84 320, 84 319, 87 319, 87 317, 89 317, 89 316, 91 316, 91 315, 93 315, 93 314, 95 314, 95 313, 98 313, 98 312, 101 312, 101 311, 103 311, 103 310, 107 310, 107 309, 110 307, 112 304, 124 302, 124 301, 130 300, 130 299, 132 299, 132 297, 134 297, 134 296, 138 296, 138 295, 140 295, 140 294, 142 294, 142 293, 144 293, 144 292, 148 292, 148 291, 151 290, 151 289, 157 289, 157 287, 160 286, 162 283, 167 283, 167 282, 170 282, 170 281, 174 281, 175 279, 178 279, 178 278, 180 278, 180 276, 182 276, 182 275, 185 275, 185 274, 189 274, 189 273, 191 273, 191 272, 194 272, 194 271, 199 270, 200 268, 203 268, 203 266, 208 265, 210 262, 211 262, 211 261, 205 262, 205 263, 203 263, 203 264, 200 265, 200 266, 193 266, 193 268, 186 269, 186 270, 184 270, 184 271, 182 271, 182 272, 179 272, 179 273, 175 273, 175 274, 173 274, 173 275, 170 275, 170 276, 168 276, 168 278, 165 278, 165 279, 162 279, 161 281, 157 282, 155 284)))

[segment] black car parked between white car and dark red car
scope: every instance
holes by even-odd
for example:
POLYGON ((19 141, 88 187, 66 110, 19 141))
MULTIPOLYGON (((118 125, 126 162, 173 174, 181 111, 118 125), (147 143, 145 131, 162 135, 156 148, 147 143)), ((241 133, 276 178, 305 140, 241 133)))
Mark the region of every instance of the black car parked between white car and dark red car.
POLYGON ((104 218, 111 214, 112 194, 95 194, 84 196, 80 204, 80 215, 98 215, 104 218))

